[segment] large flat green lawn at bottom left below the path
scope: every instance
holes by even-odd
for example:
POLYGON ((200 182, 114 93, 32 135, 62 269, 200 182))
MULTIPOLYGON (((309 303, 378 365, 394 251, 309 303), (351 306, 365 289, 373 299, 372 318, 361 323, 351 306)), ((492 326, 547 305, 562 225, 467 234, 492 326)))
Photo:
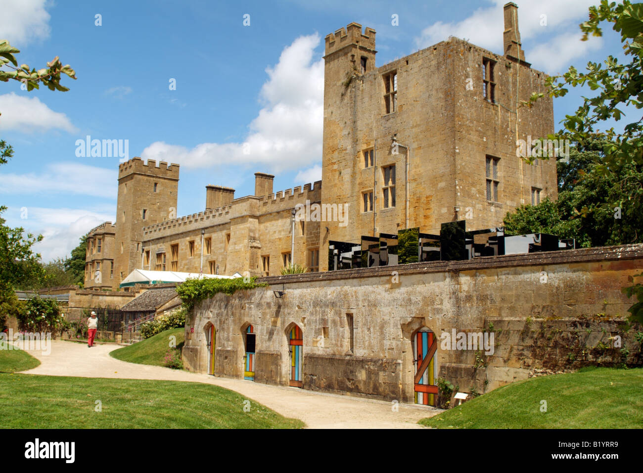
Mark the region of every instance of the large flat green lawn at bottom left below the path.
POLYGON ((228 389, 177 381, 0 374, 0 412, 5 429, 303 427, 228 389))

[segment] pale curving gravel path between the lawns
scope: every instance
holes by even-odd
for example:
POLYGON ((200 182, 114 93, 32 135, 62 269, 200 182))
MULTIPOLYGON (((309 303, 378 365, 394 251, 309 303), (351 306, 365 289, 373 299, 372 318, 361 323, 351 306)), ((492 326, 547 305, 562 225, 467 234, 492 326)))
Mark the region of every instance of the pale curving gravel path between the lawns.
POLYGON ((87 348, 80 343, 52 340, 50 355, 27 350, 41 361, 41 365, 23 373, 216 384, 248 396, 285 417, 300 419, 312 429, 422 429, 417 424, 418 420, 441 412, 432 407, 403 403, 399 404, 398 412, 393 412, 391 403, 385 401, 128 363, 109 355, 117 348, 120 346, 97 345, 87 348))

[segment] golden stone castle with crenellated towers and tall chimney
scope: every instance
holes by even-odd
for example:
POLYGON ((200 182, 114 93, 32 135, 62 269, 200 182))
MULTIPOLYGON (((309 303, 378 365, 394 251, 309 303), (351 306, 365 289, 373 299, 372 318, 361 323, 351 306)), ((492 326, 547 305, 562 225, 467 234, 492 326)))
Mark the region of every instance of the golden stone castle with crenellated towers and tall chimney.
POLYGON ((327 35, 322 180, 312 185, 274 192, 274 176, 257 172, 254 195, 208 185, 205 209, 177 217, 178 165, 121 163, 116 221, 87 239, 86 288, 116 289, 134 269, 273 276, 292 262, 323 272, 329 241, 436 233, 462 219, 498 227, 523 203, 556 199, 555 160, 516 156, 518 140, 554 131, 547 95, 521 106, 545 92, 546 75, 525 61, 517 8, 504 8, 502 55, 450 38, 376 67, 371 28, 327 35), (346 221, 293 225, 307 202, 343 206, 346 221))

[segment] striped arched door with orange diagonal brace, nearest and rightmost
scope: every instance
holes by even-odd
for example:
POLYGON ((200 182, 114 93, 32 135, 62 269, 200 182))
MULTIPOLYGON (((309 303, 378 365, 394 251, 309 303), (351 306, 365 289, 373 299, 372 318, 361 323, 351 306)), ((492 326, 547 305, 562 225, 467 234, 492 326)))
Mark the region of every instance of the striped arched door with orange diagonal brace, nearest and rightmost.
POLYGON ((422 329, 415 333, 413 355, 415 362, 415 403, 437 405, 438 387, 435 385, 435 351, 437 338, 432 331, 422 329))

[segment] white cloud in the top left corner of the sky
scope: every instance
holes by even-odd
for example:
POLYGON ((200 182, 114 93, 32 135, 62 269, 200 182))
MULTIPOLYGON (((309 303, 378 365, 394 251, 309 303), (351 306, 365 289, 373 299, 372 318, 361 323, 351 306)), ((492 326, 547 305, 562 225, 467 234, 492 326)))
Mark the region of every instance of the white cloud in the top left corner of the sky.
POLYGON ((8 0, 0 6, 0 39, 8 39, 21 49, 34 39, 45 39, 50 33, 47 0, 8 0))

